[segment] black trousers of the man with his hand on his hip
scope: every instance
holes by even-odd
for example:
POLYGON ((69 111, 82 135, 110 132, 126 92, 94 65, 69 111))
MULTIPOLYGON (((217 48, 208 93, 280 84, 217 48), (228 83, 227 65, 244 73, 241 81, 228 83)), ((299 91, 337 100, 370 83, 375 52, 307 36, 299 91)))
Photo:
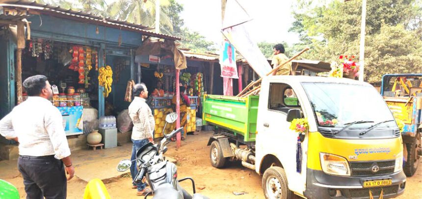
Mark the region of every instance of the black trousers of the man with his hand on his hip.
POLYGON ((67 180, 63 162, 54 155, 21 155, 18 169, 24 177, 26 199, 66 199, 67 180))

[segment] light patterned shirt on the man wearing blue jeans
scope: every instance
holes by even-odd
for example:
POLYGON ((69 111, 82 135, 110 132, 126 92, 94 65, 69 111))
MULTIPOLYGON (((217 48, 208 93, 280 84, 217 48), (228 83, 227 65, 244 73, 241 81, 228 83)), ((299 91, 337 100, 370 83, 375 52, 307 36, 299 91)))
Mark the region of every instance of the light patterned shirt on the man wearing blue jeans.
POLYGON ((153 137, 156 121, 146 100, 135 97, 129 105, 129 116, 133 122, 132 139, 143 140, 153 137))

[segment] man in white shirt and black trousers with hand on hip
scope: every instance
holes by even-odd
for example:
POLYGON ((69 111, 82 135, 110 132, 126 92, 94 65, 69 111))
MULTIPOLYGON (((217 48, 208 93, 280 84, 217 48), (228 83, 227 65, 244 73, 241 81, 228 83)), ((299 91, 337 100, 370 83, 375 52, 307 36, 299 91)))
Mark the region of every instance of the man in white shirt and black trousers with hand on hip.
POLYGON ((62 116, 49 101, 51 85, 46 76, 34 75, 23 86, 29 97, 1 119, 0 134, 19 142, 18 169, 27 199, 66 199, 65 170, 70 180, 75 169, 62 116))

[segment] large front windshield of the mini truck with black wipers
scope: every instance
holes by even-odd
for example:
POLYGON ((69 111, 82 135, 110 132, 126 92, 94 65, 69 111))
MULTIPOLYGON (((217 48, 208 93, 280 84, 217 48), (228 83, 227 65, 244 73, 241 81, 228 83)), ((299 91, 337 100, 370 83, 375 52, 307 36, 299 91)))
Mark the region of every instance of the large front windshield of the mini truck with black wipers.
POLYGON ((342 129, 348 124, 356 123, 347 129, 363 131, 374 124, 389 121, 377 125, 376 128, 397 128, 390 109, 371 86, 333 83, 302 85, 319 126, 342 129))

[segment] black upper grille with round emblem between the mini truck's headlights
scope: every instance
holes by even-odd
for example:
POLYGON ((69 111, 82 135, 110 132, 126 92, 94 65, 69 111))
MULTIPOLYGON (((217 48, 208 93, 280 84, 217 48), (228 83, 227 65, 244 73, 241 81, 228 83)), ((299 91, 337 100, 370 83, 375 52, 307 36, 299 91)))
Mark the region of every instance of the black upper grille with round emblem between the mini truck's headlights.
POLYGON ((381 175, 394 173, 395 160, 379 162, 350 162, 352 176, 381 175), (372 167, 378 166, 378 172, 372 172, 372 167))

